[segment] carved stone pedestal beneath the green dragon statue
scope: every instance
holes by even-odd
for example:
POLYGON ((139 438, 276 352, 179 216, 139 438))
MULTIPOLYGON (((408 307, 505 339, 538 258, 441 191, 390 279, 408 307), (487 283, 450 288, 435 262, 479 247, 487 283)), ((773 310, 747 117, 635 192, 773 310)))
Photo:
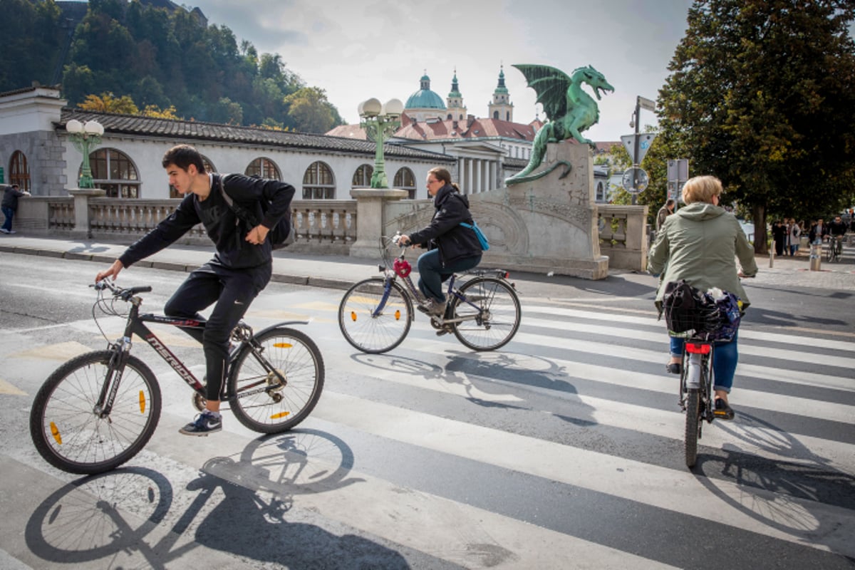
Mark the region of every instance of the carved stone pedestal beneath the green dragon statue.
POLYGON ((599 250, 592 150, 549 144, 534 174, 545 171, 540 179, 469 197, 491 244, 481 266, 605 279, 609 258, 599 250))

